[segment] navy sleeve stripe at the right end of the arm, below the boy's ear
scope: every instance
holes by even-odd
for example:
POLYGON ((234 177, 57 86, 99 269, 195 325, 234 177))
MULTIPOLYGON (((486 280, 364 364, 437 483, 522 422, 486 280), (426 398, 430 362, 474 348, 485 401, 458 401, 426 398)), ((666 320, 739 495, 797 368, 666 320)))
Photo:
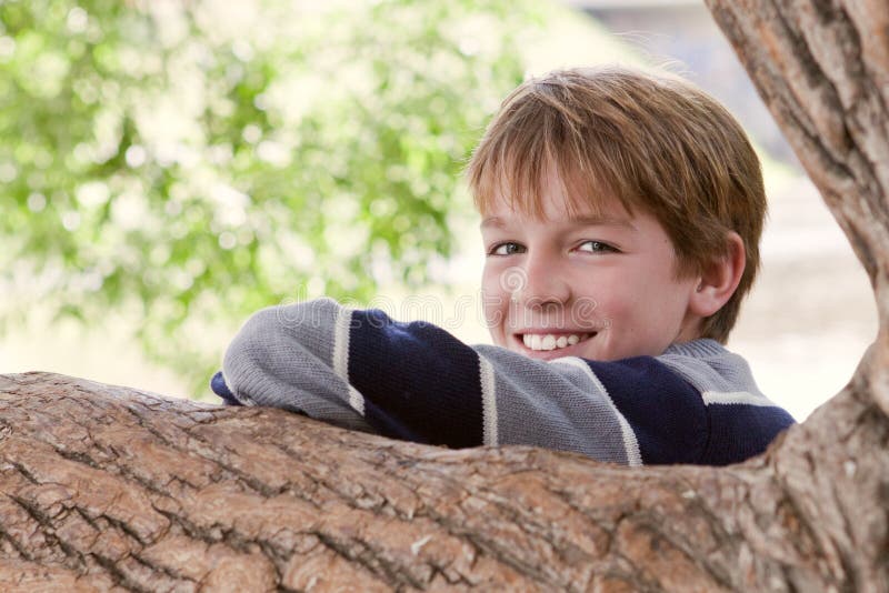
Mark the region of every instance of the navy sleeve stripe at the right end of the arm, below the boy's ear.
POLYGON ((701 463, 708 419, 695 388, 651 356, 586 362, 632 426, 642 463, 701 463))

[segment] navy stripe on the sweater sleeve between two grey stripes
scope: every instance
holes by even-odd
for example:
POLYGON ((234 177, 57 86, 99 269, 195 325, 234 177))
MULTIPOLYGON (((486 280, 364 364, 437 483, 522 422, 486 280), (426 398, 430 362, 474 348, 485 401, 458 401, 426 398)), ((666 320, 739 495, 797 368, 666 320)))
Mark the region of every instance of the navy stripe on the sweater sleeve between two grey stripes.
POLYGON ((352 312, 349 381, 364 396, 367 421, 387 436, 482 444, 478 354, 440 328, 352 312))

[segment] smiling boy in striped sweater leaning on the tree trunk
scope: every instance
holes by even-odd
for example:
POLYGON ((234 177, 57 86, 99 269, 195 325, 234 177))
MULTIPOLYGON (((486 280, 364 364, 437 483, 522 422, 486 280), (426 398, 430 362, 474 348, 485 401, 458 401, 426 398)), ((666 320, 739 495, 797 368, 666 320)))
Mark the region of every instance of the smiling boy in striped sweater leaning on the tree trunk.
POLYGON ((530 80, 472 155, 496 345, 330 300, 260 311, 213 390, 411 441, 727 464, 793 423, 722 343, 759 264, 753 150, 688 83, 530 80))

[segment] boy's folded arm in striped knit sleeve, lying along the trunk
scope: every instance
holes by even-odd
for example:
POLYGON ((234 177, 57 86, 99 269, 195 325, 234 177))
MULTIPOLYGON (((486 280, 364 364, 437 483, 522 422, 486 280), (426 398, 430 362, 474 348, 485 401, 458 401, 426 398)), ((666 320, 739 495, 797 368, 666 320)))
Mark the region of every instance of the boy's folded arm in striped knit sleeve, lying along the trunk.
POLYGON ((381 311, 319 300, 257 313, 230 345, 223 373, 241 403, 398 439, 455 448, 528 444, 629 464, 659 448, 673 461, 693 462, 707 441, 699 394, 655 359, 640 360, 547 363, 497 346, 470 348, 429 323, 398 323, 381 311), (620 401, 600 375, 621 384, 620 401), (651 400, 647 405, 629 415, 619 411, 632 385, 655 383, 657 393, 637 394, 651 400), (682 436, 647 436, 646 425, 661 424, 657 406, 668 400, 682 436))

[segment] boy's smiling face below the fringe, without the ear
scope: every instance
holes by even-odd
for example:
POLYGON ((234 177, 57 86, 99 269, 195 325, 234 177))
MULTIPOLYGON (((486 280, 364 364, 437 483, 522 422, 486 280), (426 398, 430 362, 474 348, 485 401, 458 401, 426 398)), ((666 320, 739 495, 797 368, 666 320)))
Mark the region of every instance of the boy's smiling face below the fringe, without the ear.
POLYGON ((658 220, 616 199, 571 217, 547 183, 545 220, 498 200, 481 224, 485 315, 497 345, 535 359, 658 355, 697 338, 689 311, 699 279, 676 279, 658 220))

